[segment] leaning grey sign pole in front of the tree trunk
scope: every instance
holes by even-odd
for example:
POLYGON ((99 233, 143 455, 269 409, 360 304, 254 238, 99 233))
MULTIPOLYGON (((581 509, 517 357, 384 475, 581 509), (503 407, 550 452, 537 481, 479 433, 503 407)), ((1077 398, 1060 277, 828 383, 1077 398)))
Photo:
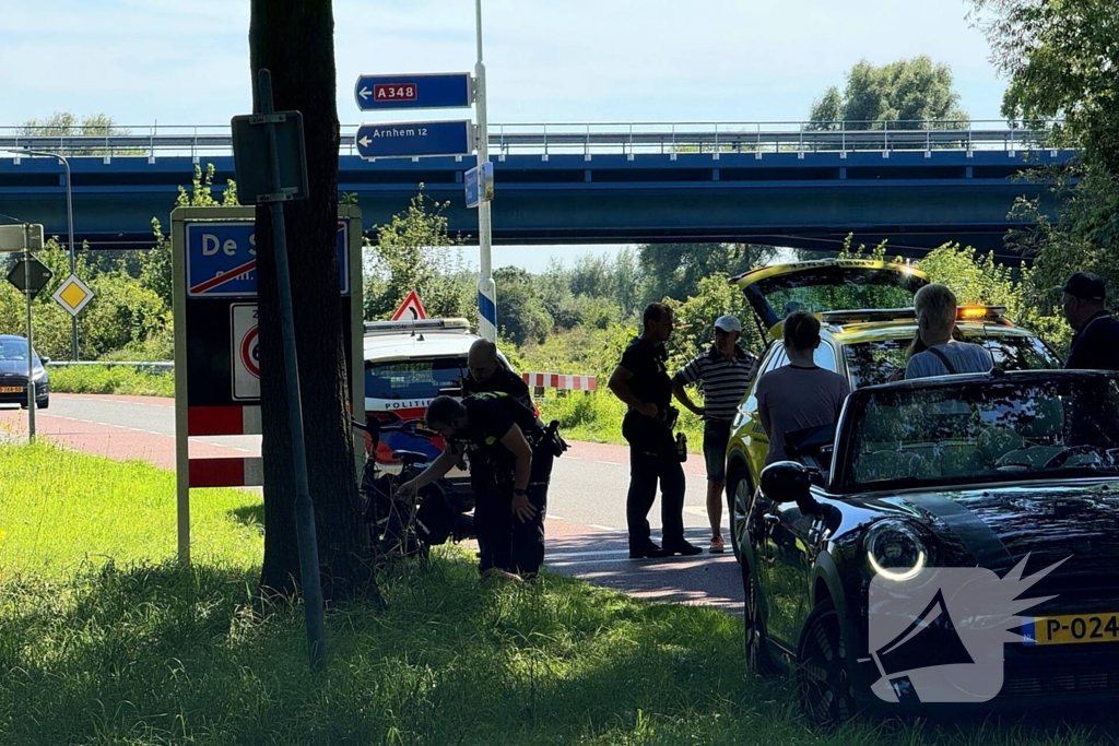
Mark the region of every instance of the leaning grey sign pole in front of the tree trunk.
MULTIPOLYGON (((269 150, 270 198, 283 199, 280 183, 280 153, 276 143, 272 107, 272 75, 262 68, 258 76, 261 114, 269 150)), ((311 670, 326 664, 327 642, 322 621, 322 582, 319 577, 319 547, 314 532, 314 504, 307 475, 307 451, 303 441, 303 405, 299 388, 299 359, 295 355, 295 321, 291 304, 291 272, 288 267, 288 234, 283 221, 283 202, 270 199, 276 281, 280 290, 280 327, 283 334, 284 374, 288 379, 288 416, 295 465, 295 531, 299 539, 300 575, 303 585, 303 608, 307 620, 307 643, 311 670)))

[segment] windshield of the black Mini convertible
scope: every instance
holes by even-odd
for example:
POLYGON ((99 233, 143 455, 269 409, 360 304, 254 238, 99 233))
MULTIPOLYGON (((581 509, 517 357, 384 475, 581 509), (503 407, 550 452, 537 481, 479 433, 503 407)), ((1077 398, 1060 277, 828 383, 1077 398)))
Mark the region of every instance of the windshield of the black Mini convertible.
POLYGON ((1119 474, 1119 378, 1014 378, 884 387, 848 407, 845 489, 1119 474))

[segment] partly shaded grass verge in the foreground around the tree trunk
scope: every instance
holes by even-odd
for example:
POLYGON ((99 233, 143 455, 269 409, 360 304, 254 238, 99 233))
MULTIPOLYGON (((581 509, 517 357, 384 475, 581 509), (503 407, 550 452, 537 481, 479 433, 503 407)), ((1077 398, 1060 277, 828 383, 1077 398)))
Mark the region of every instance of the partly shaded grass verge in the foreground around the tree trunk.
POLYGON ((1060 725, 812 731, 786 680, 744 676, 736 617, 549 573, 482 583, 454 547, 384 573, 384 610, 328 610, 312 674, 301 610, 254 611, 257 498, 195 493, 208 553, 187 569, 170 561, 171 488, 142 464, 0 445, 0 743, 1101 740, 1060 725))

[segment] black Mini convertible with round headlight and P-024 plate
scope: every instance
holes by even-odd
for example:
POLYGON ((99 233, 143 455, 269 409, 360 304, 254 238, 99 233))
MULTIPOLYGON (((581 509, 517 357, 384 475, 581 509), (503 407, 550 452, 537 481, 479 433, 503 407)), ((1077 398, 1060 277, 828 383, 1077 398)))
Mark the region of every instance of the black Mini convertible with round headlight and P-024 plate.
POLYGON ((747 662, 794 672, 812 720, 1119 698, 1119 374, 868 386, 797 443, 739 538, 747 662), (932 673, 947 693, 918 686, 932 673))

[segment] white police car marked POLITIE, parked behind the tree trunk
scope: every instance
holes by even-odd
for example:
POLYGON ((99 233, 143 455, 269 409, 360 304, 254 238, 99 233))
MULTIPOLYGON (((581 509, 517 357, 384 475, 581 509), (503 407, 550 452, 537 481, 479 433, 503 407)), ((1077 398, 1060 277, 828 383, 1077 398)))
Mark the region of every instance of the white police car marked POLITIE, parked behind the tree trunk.
MULTIPOLYGON (((393 451, 419 451, 434 460, 445 447, 438 434, 395 429, 415 424, 423 429, 424 412, 436 396, 459 396, 470 372, 467 353, 478 339, 466 319, 370 321, 365 324, 365 410, 383 426, 376 459, 386 472, 401 464, 393 451)), ((509 361, 498 351, 502 365, 509 361)), ((469 484, 464 470, 452 470, 446 480, 457 489, 469 484)))

